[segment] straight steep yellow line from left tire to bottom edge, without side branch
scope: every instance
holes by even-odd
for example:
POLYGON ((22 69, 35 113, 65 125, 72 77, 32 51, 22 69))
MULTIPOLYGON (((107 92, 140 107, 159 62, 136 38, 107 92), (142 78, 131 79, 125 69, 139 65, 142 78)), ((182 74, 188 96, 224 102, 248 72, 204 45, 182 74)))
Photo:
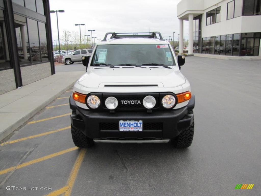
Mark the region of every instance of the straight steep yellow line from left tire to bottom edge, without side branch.
POLYGON ((74 163, 74 166, 73 166, 73 169, 70 173, 70 176, 68 178, 67 186, 69 186, 69 188, 66 190, 64 196, 70 196, 71 193, 72 193, 73 185, 74 185, 74 182, 76 180, 78 171, 81 167, 81 163, 83 161, 85 153, 86 153, 86 149, 82 148, 77 159, 76 159, 76 161, 75 161, 75 163, 74 163))

